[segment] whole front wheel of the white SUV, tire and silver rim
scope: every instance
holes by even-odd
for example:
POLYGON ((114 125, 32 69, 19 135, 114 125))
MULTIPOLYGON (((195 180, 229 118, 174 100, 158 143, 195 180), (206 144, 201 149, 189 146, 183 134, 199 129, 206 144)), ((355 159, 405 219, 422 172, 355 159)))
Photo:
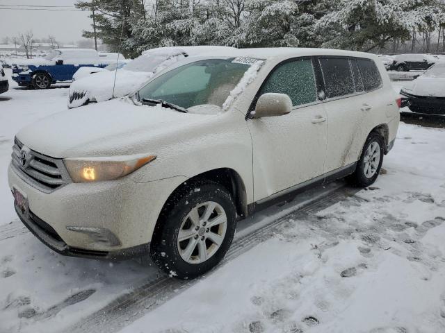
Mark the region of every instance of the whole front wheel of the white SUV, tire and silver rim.
POLYGON ((150 253, 170 275, 193 279, 216 266, 229 250, 236 210, 227 189, 193 182, 172 195, 156 225, 150 253))

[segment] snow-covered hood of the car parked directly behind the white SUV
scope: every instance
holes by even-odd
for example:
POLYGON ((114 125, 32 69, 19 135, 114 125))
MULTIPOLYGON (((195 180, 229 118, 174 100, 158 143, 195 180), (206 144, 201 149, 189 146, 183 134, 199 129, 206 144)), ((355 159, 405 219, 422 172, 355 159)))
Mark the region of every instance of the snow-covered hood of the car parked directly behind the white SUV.
POLYGON ((68 108, 77 108, 88 101, 103 102, 108 99, 122 97, 135 91, 143 85, 153 73, 143 71, 103 71, 94 75, 75 80, 70 86, 70 101, 68 108), (113 95, 113 84, 116 76, 116 84, 113 95))

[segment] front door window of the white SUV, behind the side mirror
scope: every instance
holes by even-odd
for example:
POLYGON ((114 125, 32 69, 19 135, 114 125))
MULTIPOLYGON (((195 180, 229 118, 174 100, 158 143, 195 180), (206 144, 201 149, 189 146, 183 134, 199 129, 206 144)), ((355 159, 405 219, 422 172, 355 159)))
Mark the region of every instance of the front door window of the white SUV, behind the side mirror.
POLYGON ((279 65, 266 79, 260 94, 286 94, 292 105, 304 105, 317 100, 316 80, 311 59, 299 59, 279 65))

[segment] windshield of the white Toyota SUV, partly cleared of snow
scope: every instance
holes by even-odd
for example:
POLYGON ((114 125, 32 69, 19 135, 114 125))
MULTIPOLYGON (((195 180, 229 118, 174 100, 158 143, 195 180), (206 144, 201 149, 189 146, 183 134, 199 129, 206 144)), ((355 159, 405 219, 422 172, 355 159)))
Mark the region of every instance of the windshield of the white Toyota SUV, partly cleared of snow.
POLYGON ((154 78, 139 91, 139 99, 159 99, 191 108, 223 103, 250 65, 230 59, 211 59, 177 67, 154 78))

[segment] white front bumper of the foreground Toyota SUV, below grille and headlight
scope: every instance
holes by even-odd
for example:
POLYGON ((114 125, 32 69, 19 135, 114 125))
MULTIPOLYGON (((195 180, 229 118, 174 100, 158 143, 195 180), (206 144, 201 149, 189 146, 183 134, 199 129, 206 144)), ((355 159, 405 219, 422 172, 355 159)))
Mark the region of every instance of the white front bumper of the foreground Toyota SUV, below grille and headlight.
POLYGON ((110 182, 70 183, 44 193, 11 165, 8 169, 11 191, 17 189, 28 201, 29 216, 17 212, 26 227, 56 252, 82 257, 120 257, 146 248, 165 201, 184 180, 139 183, 127 176, 110 182), (118 242, 100 241, 85 229, 108 230, 118 242))

